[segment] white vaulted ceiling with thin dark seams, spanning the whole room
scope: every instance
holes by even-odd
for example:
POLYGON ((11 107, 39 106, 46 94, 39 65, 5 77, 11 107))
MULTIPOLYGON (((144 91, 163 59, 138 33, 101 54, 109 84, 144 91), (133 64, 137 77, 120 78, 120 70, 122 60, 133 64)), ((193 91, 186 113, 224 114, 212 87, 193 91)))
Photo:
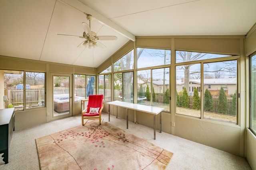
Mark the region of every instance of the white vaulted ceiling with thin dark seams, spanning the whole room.
POLYGON ((0 55, 98 67, 136 36, 246 35, 256 0, 0 0, 0 55), (82 22, 107 48, 78 47, 82 22))

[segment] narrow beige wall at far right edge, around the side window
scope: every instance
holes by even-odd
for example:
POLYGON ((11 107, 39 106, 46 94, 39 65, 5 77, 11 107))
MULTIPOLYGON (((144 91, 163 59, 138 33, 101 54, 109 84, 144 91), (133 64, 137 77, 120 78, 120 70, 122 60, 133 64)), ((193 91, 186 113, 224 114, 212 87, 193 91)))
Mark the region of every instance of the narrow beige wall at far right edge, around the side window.
MULTIPOLYGON (((250 31, 248 32, 248 35, 246 36, 246 56, 251 55, 252 53, 254 53, 256 51, 256 24, 254 24, 254 26, 250 29, 250 31)), ((249 60, 249 58, 248 58, 249 60)), ((248 63, 247 63, 248 64, 248 63)), ((249 64, 247 66, 247 68, 249 69, 249 64)), ((249 76, 247 75, 247 78, 249 76)), ((247 84, 249 81, 247 81, 247 84)), ((249 98, 249 89, 250 87, 247 87, 247 96, 248 99, 247 101, 250 100, 249 98)), ((247 104, 248 106, 249 104, 247 104)), ((250 113, 249 113, 249 106, 247 107, 247 123, 246 123, 246 159, 249 162, 250 166, 252 169, 256 169, 256 136, 252 133, 252 131, 250 131, 249 127, 250 127, 250 123, 249 123, 249 117, 250 117, 250 113)))

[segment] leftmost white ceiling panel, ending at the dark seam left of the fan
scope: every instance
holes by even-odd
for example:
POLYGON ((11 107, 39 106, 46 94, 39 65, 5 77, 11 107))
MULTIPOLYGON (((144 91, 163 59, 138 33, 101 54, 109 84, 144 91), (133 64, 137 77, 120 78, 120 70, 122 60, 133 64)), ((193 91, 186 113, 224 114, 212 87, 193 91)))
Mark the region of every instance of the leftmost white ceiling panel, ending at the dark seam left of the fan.
POLYGON ((0 1, 0 55, 39 60, 54 1, 0 1))

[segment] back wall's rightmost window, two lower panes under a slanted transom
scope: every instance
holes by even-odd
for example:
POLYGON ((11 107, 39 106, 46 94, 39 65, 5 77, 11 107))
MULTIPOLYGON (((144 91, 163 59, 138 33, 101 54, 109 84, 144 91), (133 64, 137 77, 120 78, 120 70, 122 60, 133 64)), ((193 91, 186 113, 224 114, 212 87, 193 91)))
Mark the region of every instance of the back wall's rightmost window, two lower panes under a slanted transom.
POLYGON ((229 59, 226 55, 176 51, 177 114, 237 123, 237 60, 229 59), (206 60, 220 56, 225 58, 206 60))

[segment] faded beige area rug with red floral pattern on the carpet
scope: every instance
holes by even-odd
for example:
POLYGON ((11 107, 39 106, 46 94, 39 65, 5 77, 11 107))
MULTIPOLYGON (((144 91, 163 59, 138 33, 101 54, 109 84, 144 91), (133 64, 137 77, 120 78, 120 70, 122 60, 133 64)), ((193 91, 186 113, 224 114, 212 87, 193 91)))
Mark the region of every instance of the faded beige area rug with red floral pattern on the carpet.
POLYGON ((104 122, 36 139, 42 170, 160 170, 173 153, 104 122))

